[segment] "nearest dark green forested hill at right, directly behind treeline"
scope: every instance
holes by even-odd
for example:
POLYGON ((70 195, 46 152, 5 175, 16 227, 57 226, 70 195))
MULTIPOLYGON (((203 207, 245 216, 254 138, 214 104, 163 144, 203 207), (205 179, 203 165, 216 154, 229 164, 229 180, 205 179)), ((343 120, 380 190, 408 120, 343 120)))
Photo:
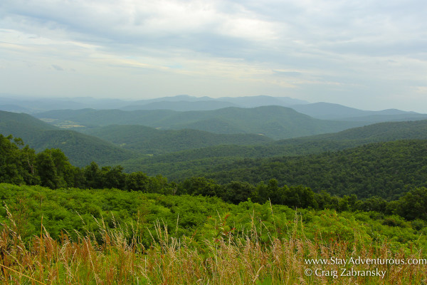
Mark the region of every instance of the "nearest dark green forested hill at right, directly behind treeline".
POLYGON ((334 195, 395 199, 411 187, 427 186, 427 140, 377 142, 301 157, 246 159, 202 172, 223 183, 275 178, 280 185, 304 185, 334 195))

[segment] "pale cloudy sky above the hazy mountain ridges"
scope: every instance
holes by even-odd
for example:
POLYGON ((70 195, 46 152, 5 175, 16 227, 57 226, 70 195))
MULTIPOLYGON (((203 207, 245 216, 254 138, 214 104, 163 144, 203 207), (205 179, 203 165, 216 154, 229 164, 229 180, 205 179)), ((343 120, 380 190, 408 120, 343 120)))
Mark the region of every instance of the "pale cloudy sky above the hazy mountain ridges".
POLYGON ((427 113, 425 0, 1 0, 0 93, 427 113))

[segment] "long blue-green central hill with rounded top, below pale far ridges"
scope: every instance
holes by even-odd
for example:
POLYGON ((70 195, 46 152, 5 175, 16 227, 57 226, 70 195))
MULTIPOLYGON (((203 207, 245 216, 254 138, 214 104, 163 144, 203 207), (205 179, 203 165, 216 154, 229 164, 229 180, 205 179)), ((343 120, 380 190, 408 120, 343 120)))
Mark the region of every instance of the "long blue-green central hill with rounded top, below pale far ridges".
POLYGON ((274 139, 334 133, 362 123, 318 120, 291 108, 223 108, 209 111, 172 110, 59 110, 36 115, 37 118, 70 120, 86 127, 105 125, 146 125, 163 129, 196 129, 212 133, 253 133, 274 139))

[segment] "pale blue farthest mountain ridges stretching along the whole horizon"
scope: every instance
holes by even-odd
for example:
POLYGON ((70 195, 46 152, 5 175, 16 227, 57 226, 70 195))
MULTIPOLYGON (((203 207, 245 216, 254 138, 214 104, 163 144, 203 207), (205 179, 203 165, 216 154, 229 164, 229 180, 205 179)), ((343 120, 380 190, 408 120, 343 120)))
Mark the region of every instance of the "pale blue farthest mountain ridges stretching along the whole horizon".
MULTIPOLYGON (((23 112, 28 114, 43 113, 48 110, 174 110, 198 111, 218 110, 221 108, 257 108, 268 105, 288 107, 298 113, 310 115, 321 120, 347 120, 360 122, 359 125, 380 123, 387 121, 425 120, 427 114, 407 112, 397 109, 388 110, 359 110, 334 103, 308 103, 305 100, 289 97, 273 97, 268 95, 221 97, 195 97, 190 95, 176 95, 170 97, 120 100, 97 99, 90 97, 80 98, 11 98, 10 95, 0 94, 0 110, 9 112, 23 112)), ((222 122, 223 123, 223 122, 222 122)), ((194 128, 199 128, 195 126, 194 128)), ((233 126, 230 126, 233 128, 233 126)))

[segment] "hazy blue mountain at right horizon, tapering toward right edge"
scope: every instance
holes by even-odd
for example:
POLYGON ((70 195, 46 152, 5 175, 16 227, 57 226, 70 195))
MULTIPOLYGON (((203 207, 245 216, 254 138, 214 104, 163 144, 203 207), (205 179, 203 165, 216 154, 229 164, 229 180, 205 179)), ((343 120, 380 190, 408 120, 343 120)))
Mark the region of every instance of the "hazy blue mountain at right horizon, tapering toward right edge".
POLYGON ((292 105, 290 108, 299 113, 310 115, 313 118, 325 120, 358 120, 378 123, 389 120, 422 120, 427 118, 427 115, 396 109, 369 111, 325 102, 292 105))

